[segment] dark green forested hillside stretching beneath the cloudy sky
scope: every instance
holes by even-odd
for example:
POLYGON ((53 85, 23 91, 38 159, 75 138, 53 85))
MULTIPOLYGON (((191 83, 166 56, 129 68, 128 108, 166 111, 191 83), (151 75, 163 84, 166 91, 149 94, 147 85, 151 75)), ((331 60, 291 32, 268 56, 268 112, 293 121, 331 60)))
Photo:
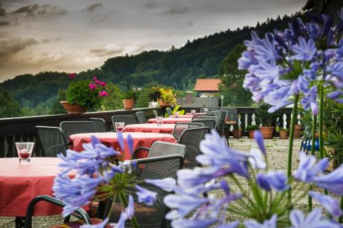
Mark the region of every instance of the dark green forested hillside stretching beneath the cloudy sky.
MULTIPOLYGON (((110 58, 100 68, 83 71, 78 78, 91 79, 98 76, 110 80, 125 89, 130 86, 145 86, 157 81, 178 90, 193 89, 198 77, 218 77, 220 62, 237 43, 250 38, 254 29, 263 36, 267 31, 285 29, 293 16, 280 16, 257 23, 256 27, 244 27, 235 31, 221 31, 169 51, 143 51, 138 55, 110 58)), ((19 75, 0 84, 22 106, 35 107, 56 96, 59 88, 67 88, 67 73, 44 72, 36 75, 19 75)))

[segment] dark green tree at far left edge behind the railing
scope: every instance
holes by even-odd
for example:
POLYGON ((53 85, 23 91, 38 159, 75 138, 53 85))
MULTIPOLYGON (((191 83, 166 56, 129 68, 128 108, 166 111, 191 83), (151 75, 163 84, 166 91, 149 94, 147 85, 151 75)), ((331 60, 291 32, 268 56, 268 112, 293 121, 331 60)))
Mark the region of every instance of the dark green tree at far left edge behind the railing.
POLYGON ((14 101, 8 90, 0 92, 0 118, 21 116, 21 106, 14 101))

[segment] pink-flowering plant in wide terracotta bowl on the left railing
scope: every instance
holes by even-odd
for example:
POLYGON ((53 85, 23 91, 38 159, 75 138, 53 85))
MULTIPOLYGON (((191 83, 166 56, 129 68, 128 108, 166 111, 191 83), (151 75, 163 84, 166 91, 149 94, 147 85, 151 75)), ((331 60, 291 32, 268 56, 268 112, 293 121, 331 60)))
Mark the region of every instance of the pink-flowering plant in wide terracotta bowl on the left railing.
MULTIPOLYGON (((75 74, 70 74, 69 79, 74 79, 75 74), (73 76, 72 76, 73 75, 73 76)), ((86 110, 95 110, 100 105, 99 97, 106 97, 106 83, 93 80, 73 81, 66 90, 67 101, 60 101, 68 114, 81 114, 86 110)))

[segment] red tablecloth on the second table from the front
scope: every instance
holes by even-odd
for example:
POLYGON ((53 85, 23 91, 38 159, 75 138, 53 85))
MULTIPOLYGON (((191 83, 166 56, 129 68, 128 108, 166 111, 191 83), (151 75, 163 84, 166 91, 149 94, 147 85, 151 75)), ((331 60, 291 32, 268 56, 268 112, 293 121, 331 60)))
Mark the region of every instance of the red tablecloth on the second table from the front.
MULTIPOLYGON (((133 149, 139 147, 151 147, 152 144, 156 141, 163 142, 174 142, 176 139, 169 134, 159 134, 159 133, 143 133, 143 132, 123 132, 123 138, 125 140, 125 153, 123 155, 123 160, 131 159, 129 153, 128 144, 126 143, 126 137, 130 134, 133 140, 133 149)), ((97 133, 84 133, 84 134, 74 134, 70 136, 71 141, 73 142, 73 150, 82 151, 83 143, 91 142, 91 136, 96 136, 99 138, 100 142, 106 144, 108 147, 113 147, 114 149, 119 150, 119 143, 117 139, 116 132, 97 132, 97 133)), ((138 155, 138 158, 147 157, 147 151, 141 151, 138 155)))

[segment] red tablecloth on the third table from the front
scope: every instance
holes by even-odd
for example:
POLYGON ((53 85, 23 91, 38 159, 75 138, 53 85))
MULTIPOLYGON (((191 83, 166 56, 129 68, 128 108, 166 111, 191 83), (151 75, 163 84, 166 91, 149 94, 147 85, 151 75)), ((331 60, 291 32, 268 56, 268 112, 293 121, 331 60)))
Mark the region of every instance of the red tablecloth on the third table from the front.
POLYGON ((142 123, 137 125, 126 125, 123 132, 148 132, 148 133, 164 133, 173 134, 174 124, 157 125, 157 123, 142 123))

